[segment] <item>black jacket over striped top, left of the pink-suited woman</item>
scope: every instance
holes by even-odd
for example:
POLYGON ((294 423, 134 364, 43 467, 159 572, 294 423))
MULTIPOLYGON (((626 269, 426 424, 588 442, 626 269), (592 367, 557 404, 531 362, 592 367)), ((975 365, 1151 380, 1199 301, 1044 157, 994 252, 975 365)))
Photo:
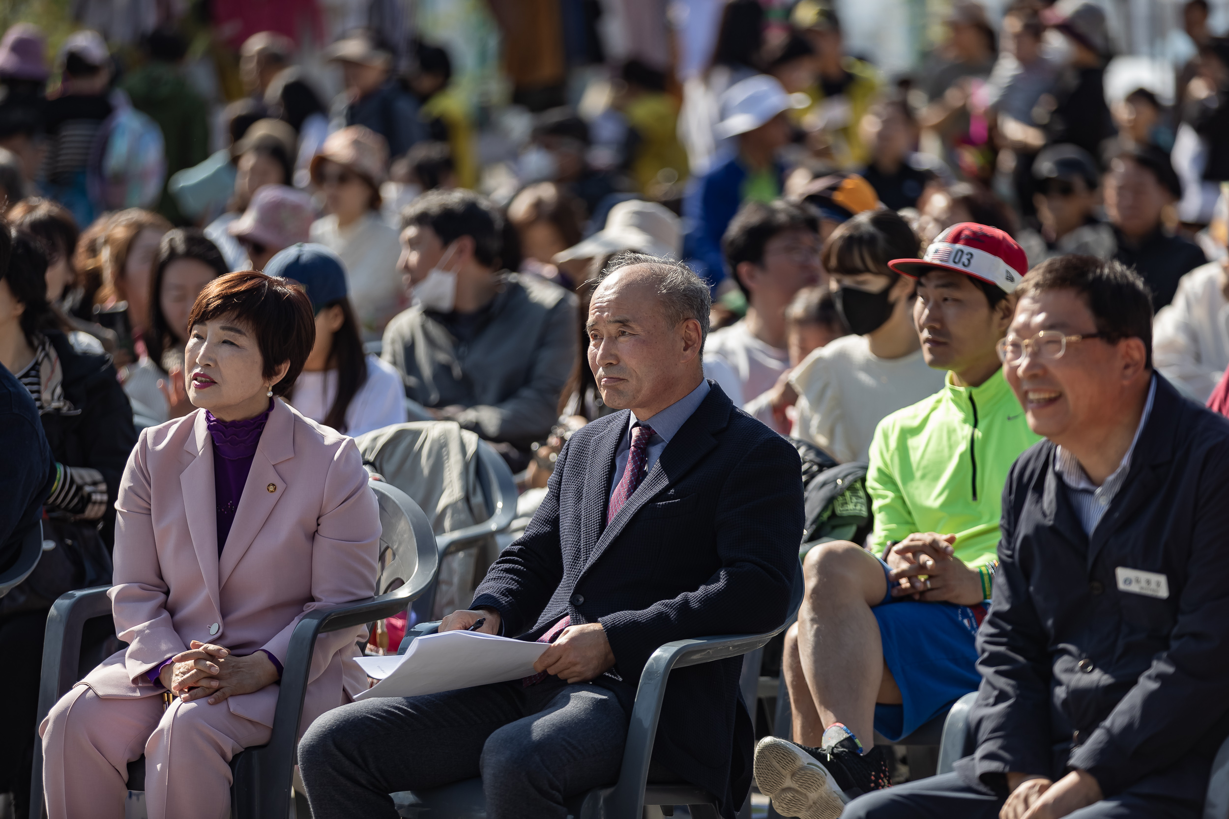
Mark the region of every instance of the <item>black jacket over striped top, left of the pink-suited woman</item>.
POLYGON ((64 370, 64 398, 69 411, 43 414, 43 431, 55 460, 68 467, 90 467, 107 481, 107 514, 102 539, 114 544, 116 496, 128 456, 136 446, 133 406, 116 377, 109 355, 77 352, 68 336, 57 330, 44 335, 55 347, 64 370))

